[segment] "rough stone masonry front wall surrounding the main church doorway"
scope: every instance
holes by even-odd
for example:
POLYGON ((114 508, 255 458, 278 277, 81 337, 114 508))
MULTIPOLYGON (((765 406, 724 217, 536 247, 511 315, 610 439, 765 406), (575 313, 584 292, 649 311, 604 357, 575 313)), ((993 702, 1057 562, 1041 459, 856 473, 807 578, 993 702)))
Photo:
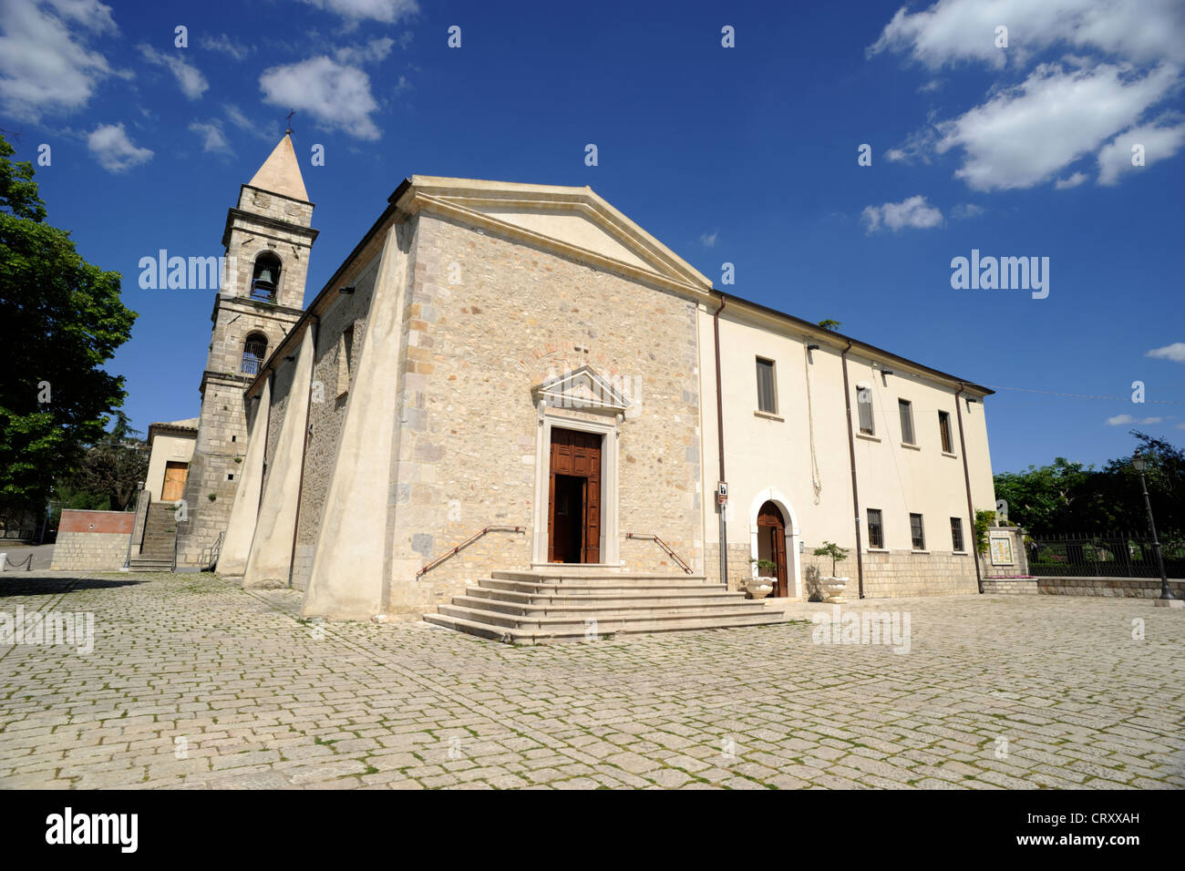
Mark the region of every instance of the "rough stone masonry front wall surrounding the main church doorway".
MULTIPOLYGON (((531 534, 497 533, 415 581, 417 568, 486 525, 531 529, 531 388, 585 363, 640 389, 641 414, 620 428, 622 539, 659 534, 703 565, 694 303, 421 213, 404 315, 392 611, 430 609, 467 579, 531 562, 531 534)), ((621 557, 630 569, 670 571, 652 543, 622 540, 621 557)))

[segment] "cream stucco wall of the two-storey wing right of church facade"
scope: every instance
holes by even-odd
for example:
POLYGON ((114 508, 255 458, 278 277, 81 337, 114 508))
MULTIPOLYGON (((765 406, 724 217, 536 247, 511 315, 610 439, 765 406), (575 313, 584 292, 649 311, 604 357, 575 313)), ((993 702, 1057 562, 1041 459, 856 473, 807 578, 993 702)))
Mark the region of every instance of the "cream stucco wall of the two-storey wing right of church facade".
MULTIPOLYGON (((700 309, 699 329, 705 395, 704 491, 711 497, 718 479, 718 451, 715 339, 707 308, 700 309)), ((800 551, 800 595, 808 595, 809 577, 832 571, 830 559, 813 555, 824 542, 834 542, 850 551, 848 558, 835 570, 852 579, 850 594, 856 594, 856 515, 860 518, 865 596, 975 593, 974 561, 969 555, 954 552, 950 533, 950 518, 961 518, 963 549, 969 551, 973 523, 967 510, 956 388, 888 360, 882 365, 892 374, 882 376, 882 367, 873 367, 873 359, 848 354, 860 500, 856 512, 839 350, 806 335, 793 324, 777 324, 738 306, 731 310, 725 308, 719 329, 730 585, 737 585, 751 572, 748 559, 752 552, 754 521, 761 504, 769 499, 782 511, 788 531, 799 533, 789 549, 800 551), (808 358, 807 344, 822 344, 822 347, 812 351, 808 358), (757 357, 775 364, 775 414, 758 411, 757 357), (859 434, 857 392, 861 384, 867 385, 872 397, 875 434, 871 437, 859 434), (898 399, 912 404, 912 446, 902 441, 898 399), (949 454, 940 446, 940 409, 950 415, 953 450, 949 454), (880 551, 869 546, 867 508, 882 512, 884 547, 880 551), (924 553, 912 551, 910 513, 923 517, 924 553)), ((961 411, 974 507, 992 508, 994 494, 984 404, 972 403, 968 412, 963 403, 961 411)), ((705 574, 718 578, 719 514, 713 501, 710 499, 704 513, 705 540, 712 553, 705 574)), ((792 574, 793 552, 788 553, 787 562, 792 574)), ((793 589, 792 577, 792 593, 793 589)))

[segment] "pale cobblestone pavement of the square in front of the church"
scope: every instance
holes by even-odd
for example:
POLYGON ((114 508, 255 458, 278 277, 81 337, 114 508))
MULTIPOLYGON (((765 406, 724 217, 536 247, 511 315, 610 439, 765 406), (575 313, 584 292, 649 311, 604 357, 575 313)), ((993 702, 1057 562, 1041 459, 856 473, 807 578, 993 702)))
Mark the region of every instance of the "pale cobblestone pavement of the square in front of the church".
POLYGON ((908 653, 813 643, 831 607, 806 603, 545 647, 299 604, 210 575, 5 576, 0 613, 91 611, 95 640, 0 647, 0 787, 1185 786, 1185 611, 1151 601, 844 607, 908 614, 908 653))

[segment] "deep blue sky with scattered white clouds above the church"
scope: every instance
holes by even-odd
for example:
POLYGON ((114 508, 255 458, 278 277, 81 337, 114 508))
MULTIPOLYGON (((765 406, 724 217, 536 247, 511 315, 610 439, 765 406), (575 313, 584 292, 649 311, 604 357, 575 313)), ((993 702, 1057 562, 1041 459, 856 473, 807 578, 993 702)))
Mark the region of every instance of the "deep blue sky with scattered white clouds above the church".
POLYGON ((50 146, 50 220, 123 274, 109 370, 141 430, 197 414, 213 294, 142 290, 137 263, 222 254, 295 108, 307 300, 406 175, 588 184, 722 289, 1019 389, 987 402, 997 472, 1185 443, 1185 5, 672 8, 5 0, 0 127, 17 159, 50 146), (953 289, 972 249, 1048 257, 1049 295, 953 289))

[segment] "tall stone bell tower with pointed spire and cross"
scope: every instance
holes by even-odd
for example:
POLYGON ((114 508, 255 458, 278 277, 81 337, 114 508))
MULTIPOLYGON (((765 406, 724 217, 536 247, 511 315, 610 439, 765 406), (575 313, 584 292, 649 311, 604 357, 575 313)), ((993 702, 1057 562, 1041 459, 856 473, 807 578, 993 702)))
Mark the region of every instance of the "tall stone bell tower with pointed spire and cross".
MULTIPOLYGON (((316 239, 290 132, 226 213, 222 286, 201 373, 198 437, 178 517, 178 566, 194 568, 226 529, 242 460, 248 408, 243 392, 305 313, 305 278, 316 239)), ((267 411, 261 409, 261 411, 267 411)))

